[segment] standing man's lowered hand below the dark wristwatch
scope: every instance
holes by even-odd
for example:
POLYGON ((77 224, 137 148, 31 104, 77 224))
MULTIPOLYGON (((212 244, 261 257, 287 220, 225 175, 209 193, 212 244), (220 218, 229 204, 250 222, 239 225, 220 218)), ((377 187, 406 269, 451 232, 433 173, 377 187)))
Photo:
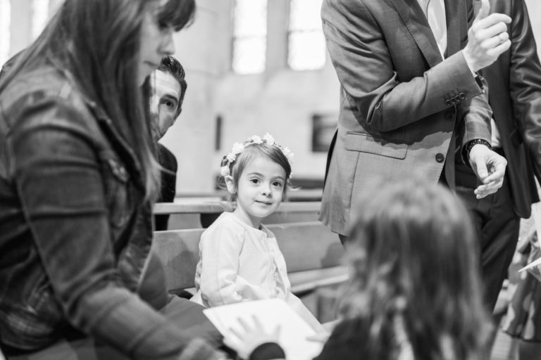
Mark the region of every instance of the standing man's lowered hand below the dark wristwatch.
POLYGON ((483 144, 474 145, 470 150, 470 165, 483 185, 475 189, 475 198, 481 199, 495 193, 504 184, 507 160, 483 144))

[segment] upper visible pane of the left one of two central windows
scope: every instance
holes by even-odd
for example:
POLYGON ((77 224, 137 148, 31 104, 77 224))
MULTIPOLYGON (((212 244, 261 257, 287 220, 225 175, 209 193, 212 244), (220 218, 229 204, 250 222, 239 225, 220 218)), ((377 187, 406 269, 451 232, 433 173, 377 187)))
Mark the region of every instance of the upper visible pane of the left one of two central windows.
POLYGON ((237 0, 234 24, 235 37, 265 36, 267 34, 267 0, 237 0))

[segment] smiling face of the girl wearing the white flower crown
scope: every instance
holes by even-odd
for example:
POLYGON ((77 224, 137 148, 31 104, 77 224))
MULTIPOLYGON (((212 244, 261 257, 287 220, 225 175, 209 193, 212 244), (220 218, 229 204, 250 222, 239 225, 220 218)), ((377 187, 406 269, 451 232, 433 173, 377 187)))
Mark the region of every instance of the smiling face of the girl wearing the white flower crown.
MULTIPOLYGON (((232 176, 225 177, 230 193, 235 193, 232 176)), ((237 186, 235 213, 250 226, 259 228, 261 221, 278 209, 285 189, 285 170, 273 160, 259 156, 244 167, 237 186)))

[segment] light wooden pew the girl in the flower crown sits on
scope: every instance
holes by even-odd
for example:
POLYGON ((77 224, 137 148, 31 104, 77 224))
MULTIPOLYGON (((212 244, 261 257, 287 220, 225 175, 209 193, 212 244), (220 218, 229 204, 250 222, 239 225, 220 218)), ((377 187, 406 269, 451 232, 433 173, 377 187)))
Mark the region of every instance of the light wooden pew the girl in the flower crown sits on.
MULTIPOLYGON (((318 221, 269 224, 285 257, 293 293, 347 280, 342 266, 344 248, 338 236, 318 221)), ((199 239, 204 229, 156 231, 153 250, 166 266, 172 293, 193 290, 199 257, 199 239)))

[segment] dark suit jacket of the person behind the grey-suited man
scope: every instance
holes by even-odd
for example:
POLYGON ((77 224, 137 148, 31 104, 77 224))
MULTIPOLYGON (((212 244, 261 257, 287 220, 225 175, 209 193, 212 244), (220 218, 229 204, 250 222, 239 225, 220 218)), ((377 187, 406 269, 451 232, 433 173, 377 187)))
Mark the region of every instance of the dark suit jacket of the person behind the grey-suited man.
POLYGON ((541 65, 524 0, 490 0, 490 9, 512 19, 508 25, 511 49, 481 73, 488 83, 489 102, 507 159, 506 179, 514 211, 526 218, 530 205, 539 201, 533 174, 535 170, 540 179, 541 65))

